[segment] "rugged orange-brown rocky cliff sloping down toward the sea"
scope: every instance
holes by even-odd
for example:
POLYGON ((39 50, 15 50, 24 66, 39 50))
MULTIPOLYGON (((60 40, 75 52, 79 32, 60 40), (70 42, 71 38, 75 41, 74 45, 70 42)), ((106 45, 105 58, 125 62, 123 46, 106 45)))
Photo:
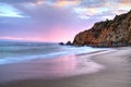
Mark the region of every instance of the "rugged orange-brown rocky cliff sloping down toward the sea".
POLYGON ((118 47, 131 45, 131 11, 116 15, 112 21, 95 23, 85 32, 79 33, 73 41, 75 46, 118 47))

